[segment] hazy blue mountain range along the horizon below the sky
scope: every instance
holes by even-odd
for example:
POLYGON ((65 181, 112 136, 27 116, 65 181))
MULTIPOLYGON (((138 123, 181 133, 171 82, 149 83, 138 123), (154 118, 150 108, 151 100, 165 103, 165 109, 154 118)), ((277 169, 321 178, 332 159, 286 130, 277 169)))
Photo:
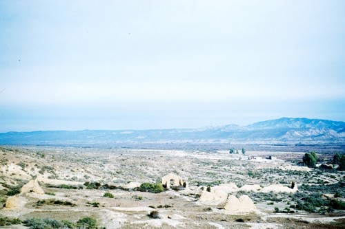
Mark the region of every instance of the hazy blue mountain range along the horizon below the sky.
POLYGON ((338 144, 345 146, 345 122, 280 118, 248 126, 116 131, 33 131, 0 133, 2 145, 94 145, 119 143, 338 144))

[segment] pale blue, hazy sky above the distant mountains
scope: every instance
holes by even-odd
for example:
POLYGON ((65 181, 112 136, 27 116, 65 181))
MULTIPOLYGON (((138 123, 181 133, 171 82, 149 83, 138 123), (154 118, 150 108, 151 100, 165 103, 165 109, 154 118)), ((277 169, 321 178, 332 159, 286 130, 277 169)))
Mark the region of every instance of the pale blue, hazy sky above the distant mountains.
POLYGON ((0 1, 0 132, 345 121, 345 1, 0 1))

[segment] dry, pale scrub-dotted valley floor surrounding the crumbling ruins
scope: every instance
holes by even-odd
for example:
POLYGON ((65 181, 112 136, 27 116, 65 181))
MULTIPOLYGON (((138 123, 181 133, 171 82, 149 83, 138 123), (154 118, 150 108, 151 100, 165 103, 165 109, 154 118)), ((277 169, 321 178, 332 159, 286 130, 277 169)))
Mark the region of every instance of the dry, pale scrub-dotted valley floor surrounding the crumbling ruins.
MULTIPOLYGON (((0 217, 73 222, 93 217, 100 228, 345 228, 345 211, 329 206, 335 200, 344 201, 345 173, 303 167, 298 164, 303 155, 3 146, 0 217), (273 160, 266 158, 269 156, 273 160), (181 177, 189 187, 161 193, 135 188, 146 182, 159 183, 169 173, 181 177), (8 190, 32 180, 44 193, 21 190, 14 195, 14 206, 5 207, 8 190), (297 184, 297 192, 290 188, 292 182, 297 184), (213 196, 203 199, 208 186, 213 196), (225 199, 215 190, 226 193, 225 199), (105 193, 113 198, 104 197, 105 193), (256 209, 227 210, 227 195, 248 195, 256 209), (313 201, 310 197, 319 197, 326 204, 309 206, 314 207, 309 212, 297 208, 313 201)), ((332 156, 319 155, 326 161, 332 156)))

